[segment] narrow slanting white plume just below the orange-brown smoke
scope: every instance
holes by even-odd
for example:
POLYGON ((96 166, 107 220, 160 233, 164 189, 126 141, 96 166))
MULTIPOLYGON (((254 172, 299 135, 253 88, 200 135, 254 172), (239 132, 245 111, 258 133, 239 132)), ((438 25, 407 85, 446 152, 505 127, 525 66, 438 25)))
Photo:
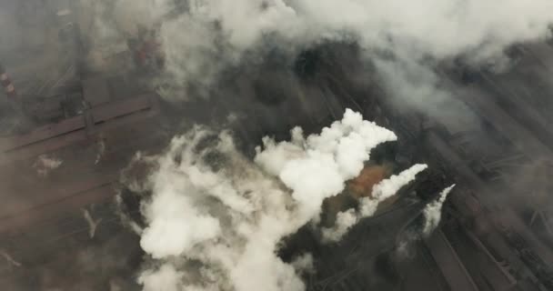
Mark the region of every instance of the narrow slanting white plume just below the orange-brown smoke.
POLYGON ((373 216, 377 211, 378 205, 387 198, 397 194, 397 191, 403 186, 407 186, 411 181, 415 180, 418 173, 424 171, 427 165, 417 164, 411 166, 407 170, 398 175, 390 176, 382 180, 373 187, 371 196, 362 197, 359 200, 359 209, 348 209, 345 212, 339 212, 335 225, 330 228, 323 229, 323 238, 327 242, 337 242, 347 231, 359 222, 359 220, 373 216))

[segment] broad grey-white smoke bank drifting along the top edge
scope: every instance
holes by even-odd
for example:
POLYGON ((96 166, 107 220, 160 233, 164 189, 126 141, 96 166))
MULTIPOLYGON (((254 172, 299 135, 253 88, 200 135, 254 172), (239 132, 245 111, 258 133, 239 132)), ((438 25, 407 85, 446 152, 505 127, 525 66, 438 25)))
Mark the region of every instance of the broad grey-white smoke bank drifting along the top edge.
POLYGON ((553 20, 547 0, 81 2, 96 16, 92 44, 113 42, 137 25, 159 27, 167 62, 157 85, 167 99, 212 95, 226 69, 262 63, 267 52, 277 50, 290 63, 321 43, 353 42, 363 51, 359 61, 377 67, 370 77, 380 78, 395 105, 463 124, 474 116, 430 67, 460 59, 503 69, 509 45, 547 38, 553 20))

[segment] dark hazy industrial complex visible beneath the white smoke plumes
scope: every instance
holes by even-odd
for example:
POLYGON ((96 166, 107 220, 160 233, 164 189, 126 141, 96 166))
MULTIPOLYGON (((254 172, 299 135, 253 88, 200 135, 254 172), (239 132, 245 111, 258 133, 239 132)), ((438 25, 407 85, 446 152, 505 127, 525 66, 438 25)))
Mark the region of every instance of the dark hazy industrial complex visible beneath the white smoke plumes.
MULTIPOLYGON (((337 241, 313 222, 279 240, 285 264, 312 256, 312 269, 297 271, 306 290, 553 290, 553 42, 508 45, 502 69, 432 63, 434 85, 450 99, 412 110, 347 40, 294 54, 266 49, 226 64, 209 89, 205 80, 181 86, 167 73, 175 67, 158 24, 93 37, 99 28, 85 2, 0 1, 3 30, 14 31, 0 34, 1 290, 188 290, 138 279, 160 266, 141 241, 155 189, 140 181, 163 168, 151 161, 172 153, 175 136, 194 139, 186 132, 205 126, 228 131, 240 156, 257 162, 264 136, 293 144, 292 128, 318 134, 347 108, 397 141, 376 146, 358 175, 324 199, 317 224, 332 227, 361 209, 403 169, 428 168, 337 241), (425 209, 454 184, 425 230, 425 209)), ((202 161, 214 172, 235 175, 224 171, 227 153, 208 154, 202 161)), ((184 165, 186 156, 173 159, 184 165)))

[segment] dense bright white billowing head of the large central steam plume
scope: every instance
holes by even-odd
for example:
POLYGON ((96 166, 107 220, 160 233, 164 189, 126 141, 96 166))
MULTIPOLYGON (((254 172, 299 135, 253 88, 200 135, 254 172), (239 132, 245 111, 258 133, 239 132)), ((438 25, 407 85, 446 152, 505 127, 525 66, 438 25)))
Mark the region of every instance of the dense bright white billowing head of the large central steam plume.
POLYGON ((341 122, 323 128, 320 135, 304 138, 296 127, 291 142, 264 138, 256 164, 293 190, 301 212, 310 219, 325 198, 340 193, 344 182, 361 172, 372 148, 396 139, 391 131, 347 109, 341 122))

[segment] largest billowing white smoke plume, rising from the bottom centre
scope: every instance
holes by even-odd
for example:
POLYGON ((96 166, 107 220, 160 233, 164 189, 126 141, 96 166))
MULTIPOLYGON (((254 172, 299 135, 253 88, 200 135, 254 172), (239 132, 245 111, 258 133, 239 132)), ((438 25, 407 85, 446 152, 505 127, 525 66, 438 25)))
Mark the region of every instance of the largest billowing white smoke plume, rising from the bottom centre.
POLYGON ((295 128, 290 142, 266 137, 255 164, 226 132, 196 127, 174 138, 142 205, 141 246, 162 264, 138 282, 146 291, 304 290, 299 274, 312 269, 312 256, 287 264, 279 243, 317 220, 323 200, 359 174, 371 149, 396 138, 351 110, 319 135, 295 128))

